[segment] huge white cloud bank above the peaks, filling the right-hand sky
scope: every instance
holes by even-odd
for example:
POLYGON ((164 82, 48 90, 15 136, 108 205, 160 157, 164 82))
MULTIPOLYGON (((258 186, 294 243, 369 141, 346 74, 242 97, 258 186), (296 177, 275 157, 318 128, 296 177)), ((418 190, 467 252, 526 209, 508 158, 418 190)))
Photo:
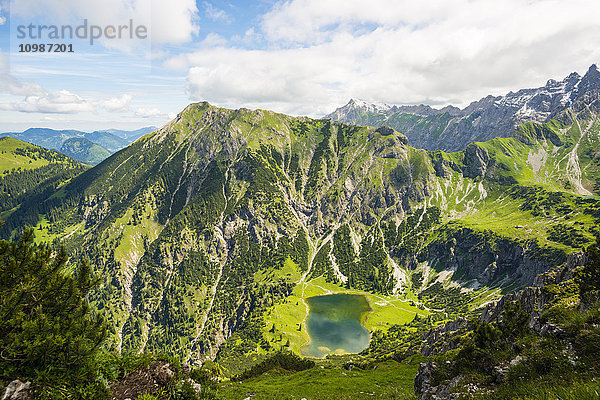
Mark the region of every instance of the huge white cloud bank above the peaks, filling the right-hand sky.
POLYGON ((228 107, 464 106, 599 62, 596 1, 292 0, 262 18, 263 50, 215 43, 166 65, 188 69, 191 99, 228 107))

